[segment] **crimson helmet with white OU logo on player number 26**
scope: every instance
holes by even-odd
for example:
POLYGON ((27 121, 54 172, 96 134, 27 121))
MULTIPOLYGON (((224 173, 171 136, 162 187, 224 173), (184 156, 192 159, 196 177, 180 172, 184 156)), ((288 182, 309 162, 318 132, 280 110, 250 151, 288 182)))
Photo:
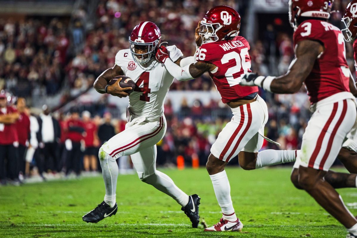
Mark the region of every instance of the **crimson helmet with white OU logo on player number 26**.
POLYGON ((239 34, 241 16, 229 6, 215 6, 207 11, 200 26, 202 44, 239 34))

